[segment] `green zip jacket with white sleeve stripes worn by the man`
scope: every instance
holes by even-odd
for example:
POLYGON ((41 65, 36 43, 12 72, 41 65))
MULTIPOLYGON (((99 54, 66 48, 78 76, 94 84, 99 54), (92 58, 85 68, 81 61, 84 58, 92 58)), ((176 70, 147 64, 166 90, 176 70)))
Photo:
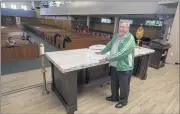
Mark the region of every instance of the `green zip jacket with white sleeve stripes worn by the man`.
MULTIPOLYGON (((115 34, 112 40, 101 51, 105 54, 111 50, 114 42, 118 38, 119 33, 115 34)), ((117 71, 128 71, 134 68, 134 49, 136 47, 134 36, 131 33, 126 33, 118 46, 118 52, 106 57, 109 62, 117 61, 117 71)))

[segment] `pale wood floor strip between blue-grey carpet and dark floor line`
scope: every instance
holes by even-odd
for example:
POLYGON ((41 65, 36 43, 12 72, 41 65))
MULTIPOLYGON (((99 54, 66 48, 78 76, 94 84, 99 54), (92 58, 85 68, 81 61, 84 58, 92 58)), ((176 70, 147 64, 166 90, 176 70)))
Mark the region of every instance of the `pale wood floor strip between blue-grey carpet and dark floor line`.
MULTIPOLYGON (((51 82, 51 69, 46 68, 47 81, 51 82)), ((6 95, 43 85, 41 69, 4 75, 1 77, 1 94, 6 95)))

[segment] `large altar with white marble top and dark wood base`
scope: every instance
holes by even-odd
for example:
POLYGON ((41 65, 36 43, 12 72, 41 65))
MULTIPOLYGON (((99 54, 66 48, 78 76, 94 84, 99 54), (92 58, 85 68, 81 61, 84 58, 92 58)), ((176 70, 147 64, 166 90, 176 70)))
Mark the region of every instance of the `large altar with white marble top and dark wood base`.
MULTIPOLYGON (((77 110, 78 88, 94 80, 110 76, 108 62, 100 63, 105 55, 97 55, 99 49, 83 48, 66 51, 47 52, 45 55, 51 63, 51 89, 66 108, 67 113, 77 110)), ((150 55, 154 50, 135 48, 135 66, 133 75, 145 80, 150 55)))

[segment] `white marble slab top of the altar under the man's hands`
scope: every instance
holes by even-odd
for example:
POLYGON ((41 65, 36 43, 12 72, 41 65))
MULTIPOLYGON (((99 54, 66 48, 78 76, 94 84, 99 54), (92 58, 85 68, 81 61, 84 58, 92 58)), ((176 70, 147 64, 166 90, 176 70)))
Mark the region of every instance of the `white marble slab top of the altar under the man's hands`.
MULTIPOLYGON (((98 66, 106 63, 100 63, 99 60, 105 58, 105 55, 97 55, 97 49, 73 49, 65 51, 55 51, 45 53, 46 57, 51 61, 62 73, 84 69, 88 67, 98 66)), ((135 57, 154 53, 154 50, 148 48, 135 48, 135 57)))

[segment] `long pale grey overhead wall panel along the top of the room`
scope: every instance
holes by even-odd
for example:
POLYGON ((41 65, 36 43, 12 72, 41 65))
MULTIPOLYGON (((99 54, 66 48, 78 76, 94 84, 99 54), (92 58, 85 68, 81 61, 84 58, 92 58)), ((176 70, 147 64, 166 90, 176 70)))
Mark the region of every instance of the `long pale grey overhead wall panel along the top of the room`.
MULTIPOLYGON (((131 0, 132 1, 132 0, 131 0)), ((93 14, 173 14, 176 8, 158 5, 158 2, 87 2, 76 1, 60 7, 42 8, 41 15, 93 14), (113 6, 113 7, 112 7, 113 6)))

